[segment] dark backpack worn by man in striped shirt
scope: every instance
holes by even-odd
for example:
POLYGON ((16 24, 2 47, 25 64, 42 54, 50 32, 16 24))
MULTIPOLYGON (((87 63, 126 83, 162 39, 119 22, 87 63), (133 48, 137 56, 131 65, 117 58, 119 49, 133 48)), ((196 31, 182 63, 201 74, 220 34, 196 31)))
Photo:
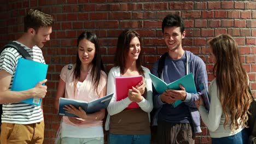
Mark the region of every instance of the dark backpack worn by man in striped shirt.
MULTIPOLYGON (((22 57, 24 57, 25 59, 30 59, 31 61, 33 61, 30 54, 24 49, 24 46, 21 46, 20 44, 15 43, 14 41, 11 41, 7 45, 4 45, 3 48, 0 50, 0 55, 1 55, 2 51, 5 48, 8 48, 8 47, 13 47, 14 49, 16 49, 22 55, 22 57)), ((0 105, 0 128, 1 128, 1 123, 2 123, 2 113, 3 113, 3 105, 1 104, 0 105)))

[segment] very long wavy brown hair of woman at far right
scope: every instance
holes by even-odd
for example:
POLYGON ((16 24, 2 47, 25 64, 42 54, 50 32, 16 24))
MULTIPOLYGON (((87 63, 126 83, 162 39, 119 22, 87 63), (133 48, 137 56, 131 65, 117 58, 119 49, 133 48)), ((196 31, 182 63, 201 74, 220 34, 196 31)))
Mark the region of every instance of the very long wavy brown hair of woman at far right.
POLYGON ((229 119, 230 130, 238 129, 240 125, 247 126, 247 111, 252 99, 248 92, 248 76, 241 62, 239 47, 227 34, 218 35, 209 44, 216 57, 213 73, 225 115, 224 128, 229 119))

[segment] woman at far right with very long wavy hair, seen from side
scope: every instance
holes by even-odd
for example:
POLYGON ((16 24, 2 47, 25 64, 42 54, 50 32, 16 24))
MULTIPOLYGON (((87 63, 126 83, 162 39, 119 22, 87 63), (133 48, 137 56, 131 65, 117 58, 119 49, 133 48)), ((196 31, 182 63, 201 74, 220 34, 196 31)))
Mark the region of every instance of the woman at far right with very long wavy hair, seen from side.
POLYGON ((248 78, 242 66, 239 47, 230 35, 209 41, 210 56, 216 78, 209 86, 210 111, 203 100, 196 101, 203 123, 210 131, 212 143, 247 143, 247 111, 251 103, 248 78))

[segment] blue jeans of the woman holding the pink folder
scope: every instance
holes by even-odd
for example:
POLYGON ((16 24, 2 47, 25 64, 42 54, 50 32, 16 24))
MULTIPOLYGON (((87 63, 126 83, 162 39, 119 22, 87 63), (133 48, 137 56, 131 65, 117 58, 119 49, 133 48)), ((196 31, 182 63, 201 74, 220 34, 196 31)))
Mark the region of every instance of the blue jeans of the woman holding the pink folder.
POLYGON ((149 144, 151 135, 123 135, 111 134, 108 135, 108 144, 149 144))

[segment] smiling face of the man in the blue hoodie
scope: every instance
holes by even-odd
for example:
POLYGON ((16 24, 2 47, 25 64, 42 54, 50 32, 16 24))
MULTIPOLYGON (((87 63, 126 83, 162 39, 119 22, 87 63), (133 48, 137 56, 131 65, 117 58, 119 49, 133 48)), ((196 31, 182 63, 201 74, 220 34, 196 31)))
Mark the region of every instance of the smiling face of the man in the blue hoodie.
POLYGON ((185 37, 185 32, 181 34, 180 27, 165 27, 164 40, 169 51, 182 49, 182 39, 185 37))

